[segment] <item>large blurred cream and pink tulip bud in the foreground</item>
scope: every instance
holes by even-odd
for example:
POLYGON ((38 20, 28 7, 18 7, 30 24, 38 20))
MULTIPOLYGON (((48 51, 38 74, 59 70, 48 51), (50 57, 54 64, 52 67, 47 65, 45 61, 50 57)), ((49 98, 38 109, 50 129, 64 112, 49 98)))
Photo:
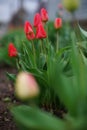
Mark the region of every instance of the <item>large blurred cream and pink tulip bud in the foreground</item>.
POLYGON ((36 97, 39 87, 34 77, 27 72, 20 72, 16 78, 15 94, 21 100, 36 97))

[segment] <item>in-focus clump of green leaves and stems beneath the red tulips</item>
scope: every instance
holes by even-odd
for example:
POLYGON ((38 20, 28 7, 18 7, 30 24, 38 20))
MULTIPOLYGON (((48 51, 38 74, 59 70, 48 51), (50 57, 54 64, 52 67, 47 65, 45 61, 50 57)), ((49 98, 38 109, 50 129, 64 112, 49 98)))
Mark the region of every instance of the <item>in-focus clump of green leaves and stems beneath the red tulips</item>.
MULTIPOLYGON (((53 23, 49 22, 47 25, 45 25, 45 28, 52 28, 51 31, 54 30, 54 35, 57 34, 57 31, 53 27, 53 23)), ((28 41, 26 39, 23 39, 22 42, 19 40, 19 48, 18 50, 18 56, 15 58, 16 65, 18 68, 18 71, 27 71, 33 74, 35 76, 40 89, 41 94, 39 97, 39 105, 43 106, 46 105, 46 107, 51 109, 52 104, 56 106, 57 102, 59 101, 58 97, 55 95, 54 90, 50 86, 54 86, 54 83, 52 83, 52 68, 53 63, 56 63, 57 61, 61 64, 61 62, 64 62, 64 72, 67 73, 66 66, 69 62, 68 53, 70 53, 70 46, 71 45, 62 45, 64 38, 63 36, 68 35, 65 32, 68 32, 69 26, 67 25, 65 28, 61 28, 59 31, 59 50, 56 48, 56 37, 54 40, 54 43, 52 42, 52 38, 50 36, 51 33, 48 32, 48 37, 46 39, 35 39, 32 41, 28 41), (67 31, 64 31, 66 30, 67 31)), ((70 34, 69 34, 70 35, 70 34)), ((71 38, 71 37, 69 37, 71 38)), ((69 40, 69 39, 68 39, 69 40)), ((65 44, 66 44, 65 40, 65 44)), ((16 41, 15 41, 16 42, 16 41)), ((15 44, 15 46, 17 46, 15 44)), ((8 74, 8 77, 13 80, 14 75, 8 74)), ((59 107, 59 106, 58 106, 59 107)))

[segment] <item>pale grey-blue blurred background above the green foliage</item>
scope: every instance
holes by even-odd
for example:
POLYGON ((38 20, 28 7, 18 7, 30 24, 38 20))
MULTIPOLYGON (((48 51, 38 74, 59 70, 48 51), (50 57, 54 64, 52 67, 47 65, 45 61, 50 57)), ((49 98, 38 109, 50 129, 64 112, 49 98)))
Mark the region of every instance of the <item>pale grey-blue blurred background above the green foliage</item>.
MULTIPOLYGON (((42 7, 48 10, 49 19, 54 20, 59 12, 59 3, 61 0, 0 0, 0 37, 11 28, 23 27, 25 20, 33 23, 34 14, 42 7)), ((63 19, 71 20, 67 11, 60 14, 63 19)), ((83 26, 87 26, 87 0, 81 0, 76 17, 83 26)))

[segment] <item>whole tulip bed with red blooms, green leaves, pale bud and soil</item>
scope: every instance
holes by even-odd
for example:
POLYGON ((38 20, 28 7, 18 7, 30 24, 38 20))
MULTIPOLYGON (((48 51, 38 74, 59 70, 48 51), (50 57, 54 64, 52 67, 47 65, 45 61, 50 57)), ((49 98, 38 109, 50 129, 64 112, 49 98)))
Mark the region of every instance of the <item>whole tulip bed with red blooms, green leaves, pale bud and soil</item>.
POLYGON ((51 28, 41 14, 25 22, 26 37, 0 41, 1 63, 16 67, 0 69, 0 129, 87 130, 87 32, 62 18, 51 28))

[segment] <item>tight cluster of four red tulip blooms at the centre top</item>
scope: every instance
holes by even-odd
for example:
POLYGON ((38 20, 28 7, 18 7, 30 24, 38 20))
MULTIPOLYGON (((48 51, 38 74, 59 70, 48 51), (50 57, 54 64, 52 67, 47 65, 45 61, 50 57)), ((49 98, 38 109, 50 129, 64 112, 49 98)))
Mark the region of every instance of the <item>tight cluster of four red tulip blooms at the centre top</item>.
POLYGON ((24 31, 28 40, 32 39, 43 39, 47 37, 46 31, 43 26, 43 22, 48 21, 48 13, 46 9, 41 9, 41 15, 36 13, 34 16, 34 27, 36 28, 36 34, 34 34, 32 25, 26 21, 24 26, 24 31))

